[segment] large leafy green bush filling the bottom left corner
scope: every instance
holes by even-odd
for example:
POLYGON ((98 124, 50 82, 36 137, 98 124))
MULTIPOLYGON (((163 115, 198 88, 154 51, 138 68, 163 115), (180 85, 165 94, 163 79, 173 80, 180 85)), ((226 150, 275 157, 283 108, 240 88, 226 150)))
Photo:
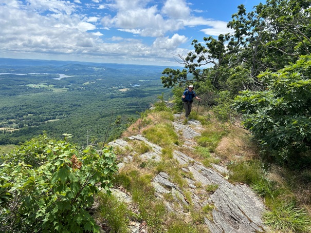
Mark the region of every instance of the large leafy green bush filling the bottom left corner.
POLYGON ((86 210, 99 187, 109 191, 117 170, 112 148, 79 150, 41 135, 2 157, 0 229, 97 232, 86 210))

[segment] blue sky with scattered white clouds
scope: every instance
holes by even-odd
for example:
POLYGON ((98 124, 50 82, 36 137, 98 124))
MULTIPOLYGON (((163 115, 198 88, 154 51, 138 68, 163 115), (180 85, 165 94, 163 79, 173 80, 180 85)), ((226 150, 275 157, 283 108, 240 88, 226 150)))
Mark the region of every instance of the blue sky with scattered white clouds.
POLYGON ((0 0, 0 57, 180 66, 261 0, 0 0))

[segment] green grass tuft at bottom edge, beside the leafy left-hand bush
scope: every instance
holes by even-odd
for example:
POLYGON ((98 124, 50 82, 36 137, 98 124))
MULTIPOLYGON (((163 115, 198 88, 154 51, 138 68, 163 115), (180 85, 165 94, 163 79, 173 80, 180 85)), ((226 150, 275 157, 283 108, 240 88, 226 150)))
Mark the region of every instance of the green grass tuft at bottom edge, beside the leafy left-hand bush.
POLYGON ((100 204, 99 215, 107 221, 107 225, 112 232, 127 232, 129 226, 130 210, 126 204, 118 201, 114 196, 106 193, 99 193, 98 201, 100 204))

